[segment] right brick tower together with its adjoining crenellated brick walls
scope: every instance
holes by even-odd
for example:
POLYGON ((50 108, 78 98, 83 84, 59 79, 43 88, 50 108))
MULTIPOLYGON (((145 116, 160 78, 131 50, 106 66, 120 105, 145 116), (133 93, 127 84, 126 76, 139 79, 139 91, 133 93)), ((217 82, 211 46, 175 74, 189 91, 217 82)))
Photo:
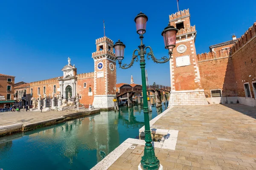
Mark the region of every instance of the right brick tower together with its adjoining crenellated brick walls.
POLYGON ((242 103, 256 107, 256 23, 241 38, 209 46, 197 54, 197 31, 188 10, 169 16, 178 28, 170 61, 171 105, 242 103))

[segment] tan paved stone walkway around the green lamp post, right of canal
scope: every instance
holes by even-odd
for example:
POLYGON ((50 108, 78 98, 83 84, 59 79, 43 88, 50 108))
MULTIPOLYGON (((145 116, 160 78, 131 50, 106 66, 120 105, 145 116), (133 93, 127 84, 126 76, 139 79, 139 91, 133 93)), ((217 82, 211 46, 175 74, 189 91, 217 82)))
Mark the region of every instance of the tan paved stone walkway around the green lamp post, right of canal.
MULTIPOLYGON (((175 150, 155 147, 163 170, 256 170, 256 108, 175 106, 153 126, 179 131, 175 150)), ((108 170, 137 170, 144 145, 132 146, 108 170)))

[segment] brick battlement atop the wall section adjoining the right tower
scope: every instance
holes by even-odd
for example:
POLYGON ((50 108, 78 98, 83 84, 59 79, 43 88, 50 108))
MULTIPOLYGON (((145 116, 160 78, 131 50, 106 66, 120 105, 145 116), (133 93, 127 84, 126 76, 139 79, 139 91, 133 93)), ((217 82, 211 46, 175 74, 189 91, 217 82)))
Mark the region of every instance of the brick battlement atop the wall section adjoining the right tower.
POLYGON ((209 60, 209 59, 224 58, 224 57, 229 57, 229 56, 230 56, 230 48, 218 50, 215 52, 212 51, 212 52, 208 52, 208 53, 197 54, 198 62, 209 60))

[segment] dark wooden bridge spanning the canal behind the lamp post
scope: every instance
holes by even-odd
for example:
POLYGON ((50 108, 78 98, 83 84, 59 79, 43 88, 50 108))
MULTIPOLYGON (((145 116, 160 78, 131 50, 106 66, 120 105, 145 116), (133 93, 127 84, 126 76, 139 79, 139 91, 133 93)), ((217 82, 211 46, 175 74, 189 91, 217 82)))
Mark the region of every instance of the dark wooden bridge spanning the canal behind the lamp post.
MULTIPOLYGON (((147 91, 155 94, 156 107, 160 107, 162 106, 161 92, 164 91, 170 93, 171 87, 165 85, 148 85, 147 91)), ((130 103, 133 103, 132 96, 134 96, 135 93, 142 93, 142 87, 120 88, 120 90, 116 92, 116 97, 117 99, 119 99, 119 97, 126 95, 126 97, 128 98, 128 105, 130 106, 130 103)))

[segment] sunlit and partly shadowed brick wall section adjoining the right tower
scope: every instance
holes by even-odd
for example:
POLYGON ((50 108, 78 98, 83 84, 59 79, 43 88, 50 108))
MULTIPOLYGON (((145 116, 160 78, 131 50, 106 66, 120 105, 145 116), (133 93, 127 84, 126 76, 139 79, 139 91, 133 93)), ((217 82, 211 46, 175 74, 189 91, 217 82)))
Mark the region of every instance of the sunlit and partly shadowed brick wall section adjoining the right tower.
POLYGON ((222 96, 237 96, 233 63, 229 49, 198 54, 198 66, 201 85, 206 97, 211 97, 210 90, 221 90, 222 96))

